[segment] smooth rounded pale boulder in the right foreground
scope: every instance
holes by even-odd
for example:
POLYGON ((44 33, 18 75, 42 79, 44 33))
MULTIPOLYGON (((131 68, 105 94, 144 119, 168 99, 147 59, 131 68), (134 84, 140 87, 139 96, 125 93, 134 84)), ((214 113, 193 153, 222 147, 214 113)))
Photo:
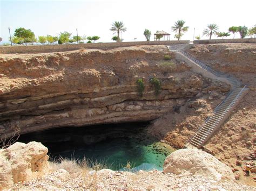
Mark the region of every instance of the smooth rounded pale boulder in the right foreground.
POLYGON ((211 177, 214 180, 234 180, 230 167, 213 155, 198 149, 181 149, 171 153, 164 162, 164 173, 196 174, 211 177))

